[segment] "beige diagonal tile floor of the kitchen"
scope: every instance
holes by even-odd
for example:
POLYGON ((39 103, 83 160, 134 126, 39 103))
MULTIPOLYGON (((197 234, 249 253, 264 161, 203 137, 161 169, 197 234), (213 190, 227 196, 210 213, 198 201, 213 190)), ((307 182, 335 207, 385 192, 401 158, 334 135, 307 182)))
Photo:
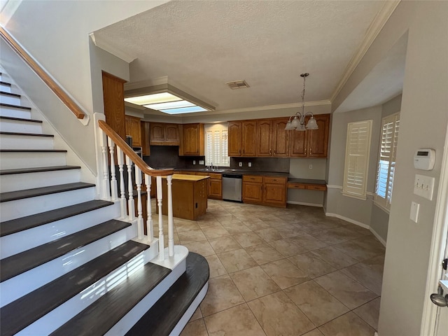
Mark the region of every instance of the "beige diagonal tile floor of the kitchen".
POLYGON ((207 258, 209 290, 182 336, 374 335, 384 246, 322 208, 209 200, 174 218, 176 244, 207 258))

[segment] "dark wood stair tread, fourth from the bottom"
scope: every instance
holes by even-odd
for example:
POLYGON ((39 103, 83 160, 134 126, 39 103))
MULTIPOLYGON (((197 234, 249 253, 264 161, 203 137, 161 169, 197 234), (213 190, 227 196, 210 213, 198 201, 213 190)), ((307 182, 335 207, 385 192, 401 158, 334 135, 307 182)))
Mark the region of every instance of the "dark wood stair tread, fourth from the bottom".
POLYGON ((115 219, 0 260, 0 282, 131 226, 115 219))

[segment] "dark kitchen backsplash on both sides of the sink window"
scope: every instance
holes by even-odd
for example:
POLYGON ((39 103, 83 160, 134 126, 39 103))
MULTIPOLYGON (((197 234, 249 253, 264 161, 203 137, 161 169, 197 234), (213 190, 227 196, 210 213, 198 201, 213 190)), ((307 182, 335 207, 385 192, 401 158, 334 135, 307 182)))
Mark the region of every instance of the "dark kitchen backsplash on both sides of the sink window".
MULTIPOLYGON (((145 156, 146 164, 153 168, 194 169, 204 167, 200 165, 204 156, 179 156, 179 146, 151 146, 151 156, 145 156), (193 165, 193 160, 196 165, 193 165)), ((253 172, 289 172, 288 158, 230 158, 231 169, 253 170, 253 172), (242 167, 239 167, 241 162, 242 167), (251 162, 252 167, 248 167, 251 162)))

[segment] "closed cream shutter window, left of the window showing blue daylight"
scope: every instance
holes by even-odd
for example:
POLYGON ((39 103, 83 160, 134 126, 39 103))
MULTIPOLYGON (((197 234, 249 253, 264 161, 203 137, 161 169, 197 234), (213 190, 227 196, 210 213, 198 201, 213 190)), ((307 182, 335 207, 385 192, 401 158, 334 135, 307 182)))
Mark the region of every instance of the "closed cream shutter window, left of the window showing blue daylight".
POLYGON ((344 185, 346 196, 365 200, 370 155, 372 120, 349 123, 345 149, 344 185))

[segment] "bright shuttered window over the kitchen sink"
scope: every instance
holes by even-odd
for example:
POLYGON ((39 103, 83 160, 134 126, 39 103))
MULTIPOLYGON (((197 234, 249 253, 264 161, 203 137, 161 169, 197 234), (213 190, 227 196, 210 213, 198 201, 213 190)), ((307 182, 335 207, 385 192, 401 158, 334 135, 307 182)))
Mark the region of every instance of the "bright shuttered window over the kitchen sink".
POLYGON ((228 127, 222 124, 205 127, 205 165, 230 167, 228 127))

